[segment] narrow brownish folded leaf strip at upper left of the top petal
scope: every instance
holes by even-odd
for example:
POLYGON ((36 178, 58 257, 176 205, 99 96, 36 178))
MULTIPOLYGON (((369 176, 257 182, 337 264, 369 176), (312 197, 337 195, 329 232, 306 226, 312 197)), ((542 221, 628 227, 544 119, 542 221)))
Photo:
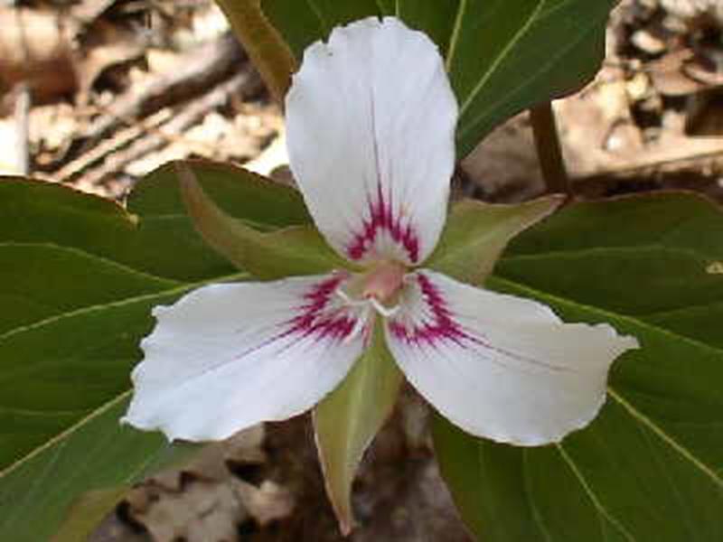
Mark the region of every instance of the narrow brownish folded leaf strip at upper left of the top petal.
POLYGON ((277 102, 284 103, 295 68, 292 52, 261 11, 260 0, 217 0, 239 42, 277 102))

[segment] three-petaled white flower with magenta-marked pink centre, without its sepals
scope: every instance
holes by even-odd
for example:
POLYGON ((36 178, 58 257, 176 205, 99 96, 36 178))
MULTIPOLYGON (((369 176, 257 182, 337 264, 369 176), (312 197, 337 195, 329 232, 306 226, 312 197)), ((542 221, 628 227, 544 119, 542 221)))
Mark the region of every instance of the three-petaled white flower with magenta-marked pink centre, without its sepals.
POLYGON ((125 420, 197 441, 295 416, 380 327, 408 381, 473 435, 536 445, 587 425, 634 338, 424 267, 446 220, 456 118, 437 47, 399 20, 311 45, 286 98, 290 165, 350 266, 203 286, 156 307, 125 420))

